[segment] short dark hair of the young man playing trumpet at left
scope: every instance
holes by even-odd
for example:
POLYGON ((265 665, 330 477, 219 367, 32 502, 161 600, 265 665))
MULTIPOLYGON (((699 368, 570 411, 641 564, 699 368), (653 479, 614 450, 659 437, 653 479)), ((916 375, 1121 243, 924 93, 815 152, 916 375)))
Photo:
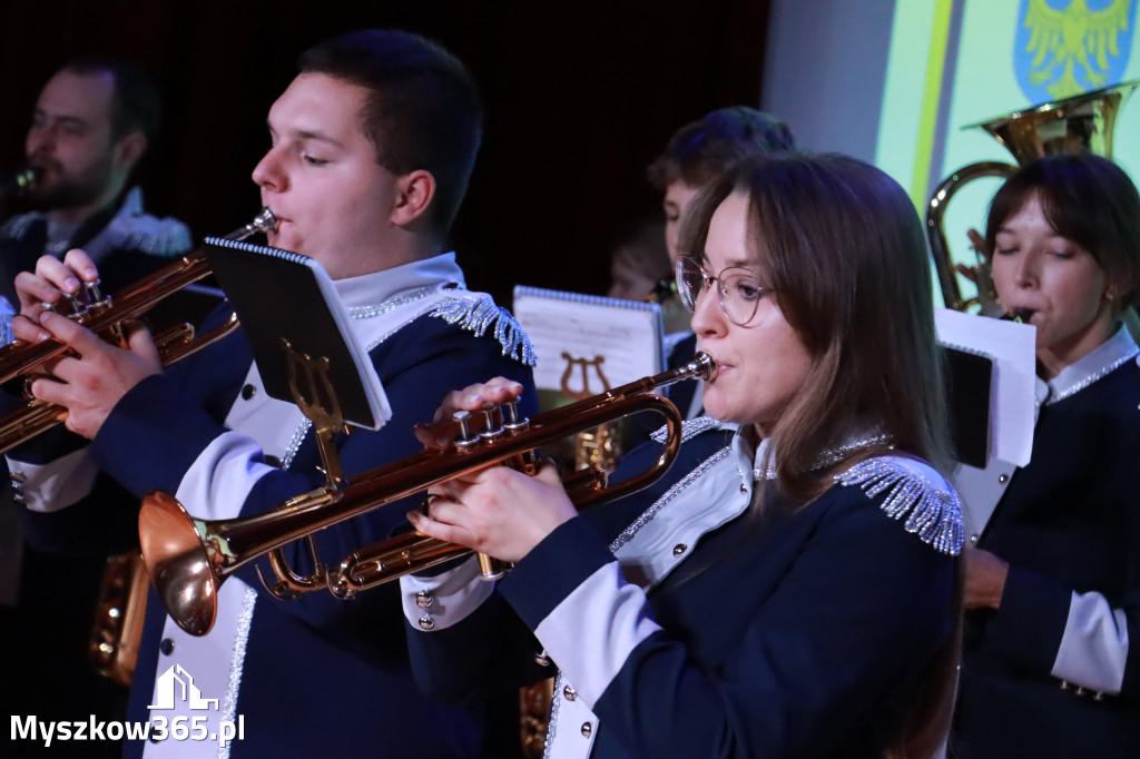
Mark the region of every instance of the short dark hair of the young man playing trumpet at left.
POLYGON ((482 140, 482 105, 463 63, 416 34, 366 30, 309 48, 298 67, 370 92, 361 117, 377 163, 397 176, 431 172, 430 218, 446 232, 482 140))

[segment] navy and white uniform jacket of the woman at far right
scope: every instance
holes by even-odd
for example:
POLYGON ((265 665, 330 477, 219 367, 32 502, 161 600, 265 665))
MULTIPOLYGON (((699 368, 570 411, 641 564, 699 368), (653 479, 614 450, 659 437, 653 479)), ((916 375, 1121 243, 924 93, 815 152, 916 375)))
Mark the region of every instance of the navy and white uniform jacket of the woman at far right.
POLYGON ((1010 564, 967 613, 968 756, 1140 756, 1140 367, 1126 328, 1037 382, 1029 464, 961 467, 970 542, 1010 564))

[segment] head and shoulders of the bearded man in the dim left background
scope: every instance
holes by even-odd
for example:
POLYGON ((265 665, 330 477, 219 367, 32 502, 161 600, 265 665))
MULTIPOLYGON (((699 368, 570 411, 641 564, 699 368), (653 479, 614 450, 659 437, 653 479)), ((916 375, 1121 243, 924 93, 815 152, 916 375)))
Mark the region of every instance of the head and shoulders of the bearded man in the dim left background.
POLYGON ((43 85, 24 142, 40 172, 27 189, 35 210, 0 227, 0 294, 14 307, 16 275, 41 255, 82 247, 107 294, 190 250, 185 225, 146 213, 142 190, 128 189, 161 117, 157 88, 125 60, 76 58, 43 85))

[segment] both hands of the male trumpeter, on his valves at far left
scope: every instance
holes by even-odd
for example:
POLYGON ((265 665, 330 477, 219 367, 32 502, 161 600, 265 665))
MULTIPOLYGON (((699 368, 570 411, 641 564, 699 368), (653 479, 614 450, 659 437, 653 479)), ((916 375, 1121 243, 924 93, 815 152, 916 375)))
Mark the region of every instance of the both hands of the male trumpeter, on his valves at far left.
POLYGON ((15 283, 21 315, 13 320, 13 335, 30 343, 55 337, 72 349, 71 354, 47 367, 50 377, 31 383, 31 392, 40 400, 65 407, 67 429, 84 438, 99 432, 127 391, 162 373, 158 351, 141 323, 124 325, 129 350, 123 350, 49 308, 64 295, 78 294, 81 279, 90 283, 98 276, 91 259, 73 250, 62 262, 48 255, 41 258, 34 274, 21 272, 15 283))

